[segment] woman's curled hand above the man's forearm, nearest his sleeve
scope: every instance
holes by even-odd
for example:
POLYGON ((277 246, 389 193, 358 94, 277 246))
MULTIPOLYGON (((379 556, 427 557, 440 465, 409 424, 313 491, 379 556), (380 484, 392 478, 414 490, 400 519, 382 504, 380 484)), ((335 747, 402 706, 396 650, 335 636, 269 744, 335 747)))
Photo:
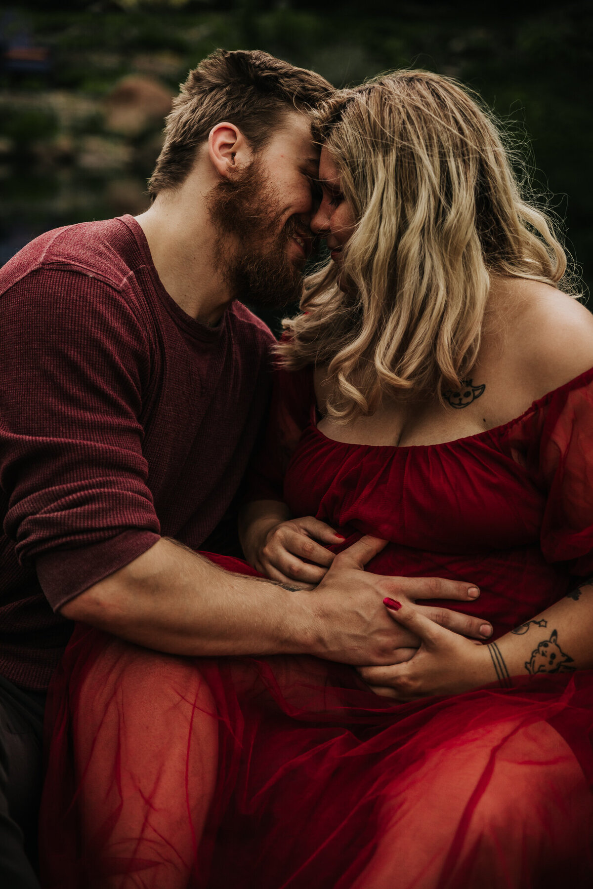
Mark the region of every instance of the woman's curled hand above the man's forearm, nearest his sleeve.
POLYGON ((321 544, 343 542, 341 534, 317 518, 292 518, 270 525, 261 535, 254 566, 273 581, 298 581, 317 586, 334 558, 321 544))

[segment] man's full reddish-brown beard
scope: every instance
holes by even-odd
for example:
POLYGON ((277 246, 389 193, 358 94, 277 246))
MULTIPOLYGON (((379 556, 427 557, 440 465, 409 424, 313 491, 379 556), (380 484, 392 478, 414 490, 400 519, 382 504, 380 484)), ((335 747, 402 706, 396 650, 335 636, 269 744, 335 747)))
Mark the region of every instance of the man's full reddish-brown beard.
POLYGON ((216 262, 234 299, 254 308, 283 308, 301 299, 301 269, 292 265, 286 248, 304 227, 291 217, 278 228, 280 199, 257 158, 240 177, 212 188, 208 210, 220 232, 216 262), (230 258, 224 255, 228 235, 238 245, 230 258))

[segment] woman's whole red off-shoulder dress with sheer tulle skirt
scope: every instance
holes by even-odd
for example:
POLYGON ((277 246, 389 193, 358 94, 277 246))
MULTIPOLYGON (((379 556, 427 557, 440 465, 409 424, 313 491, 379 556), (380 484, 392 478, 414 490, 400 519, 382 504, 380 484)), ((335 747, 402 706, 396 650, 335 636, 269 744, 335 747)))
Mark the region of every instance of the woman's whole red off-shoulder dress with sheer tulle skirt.
MULTIPOLYGON (((504 426, 398 448, 327 438, 310 374, 279 380, 256 494, 284 474, 295 515, 386 538, 367 570, 477 583, 451 607, 495 637, 593 574, 593 369, 504 426)), ((44 889, 593 885, 591 670, 398 704, 316 658, 79 627, 48 718, 44 889)))

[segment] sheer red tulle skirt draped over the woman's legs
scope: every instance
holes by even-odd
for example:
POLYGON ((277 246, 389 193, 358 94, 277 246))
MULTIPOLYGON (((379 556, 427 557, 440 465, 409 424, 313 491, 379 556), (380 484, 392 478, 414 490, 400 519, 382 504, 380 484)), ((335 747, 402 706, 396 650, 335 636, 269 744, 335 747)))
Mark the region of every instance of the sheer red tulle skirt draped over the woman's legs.
POLYGON ((339 664, 79 626, 48 707, 44 889, 589 889, 592 703, 591 671, 394 705, 339 664))

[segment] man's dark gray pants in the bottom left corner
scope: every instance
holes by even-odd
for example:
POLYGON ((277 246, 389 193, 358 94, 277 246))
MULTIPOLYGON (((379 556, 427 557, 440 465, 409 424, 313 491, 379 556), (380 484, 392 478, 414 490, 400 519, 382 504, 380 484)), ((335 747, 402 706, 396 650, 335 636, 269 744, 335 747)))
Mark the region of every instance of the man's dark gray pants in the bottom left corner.
POLYGON ((0 676, 0 886, 6 889, 39 889, 44 704, 44 694, 0 676))

